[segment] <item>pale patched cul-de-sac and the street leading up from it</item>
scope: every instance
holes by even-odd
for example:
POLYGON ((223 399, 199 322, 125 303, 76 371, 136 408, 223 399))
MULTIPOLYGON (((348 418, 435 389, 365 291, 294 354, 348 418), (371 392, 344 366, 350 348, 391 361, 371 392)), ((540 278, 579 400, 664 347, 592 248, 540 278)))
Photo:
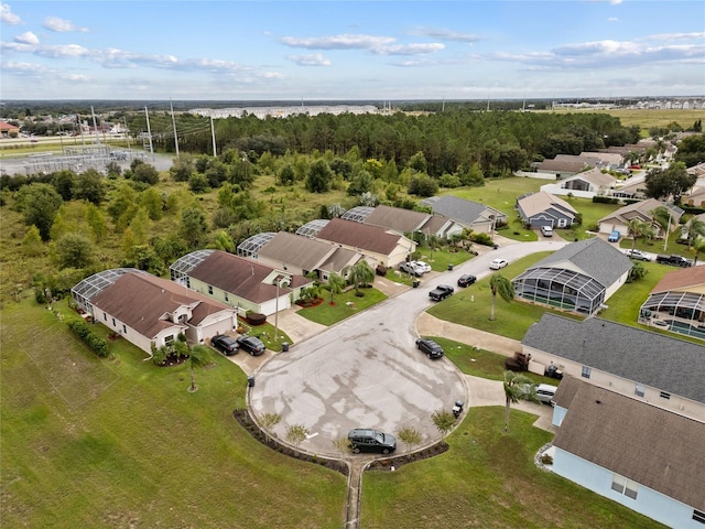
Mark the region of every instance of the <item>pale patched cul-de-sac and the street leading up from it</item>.
MULTIPOLYGON (((562 239, 509 244, 273 356, 257 373, 250 409, 259 418, 280 414, 272 432, 283 440, 290 427, 305 427, 310 434, 300 447, 319 455, 340 456, 334 443, 351 428, 397 434, 410 427, 422 439, 414 449, 438 441, 432 413, 451 411, 456 399, 471 406, 471 396, 453 363, 430 360, 415 348, 415 320, 432 303, 429 292, 438 283, 454 284, 462 273, 478 278, 491 273, 489 262, 496 257, 511 262, 565 244, 562 239)), ((398 452, 404 450, 398 443, 398 452)))

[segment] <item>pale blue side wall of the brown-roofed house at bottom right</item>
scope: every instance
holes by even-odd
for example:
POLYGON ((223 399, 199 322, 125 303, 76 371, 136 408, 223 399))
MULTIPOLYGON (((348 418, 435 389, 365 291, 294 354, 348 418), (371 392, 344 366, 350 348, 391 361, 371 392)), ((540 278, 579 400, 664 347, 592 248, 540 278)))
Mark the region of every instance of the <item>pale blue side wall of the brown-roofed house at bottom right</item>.
POLYGON ((637 498, 631 499, 612 490, 611 485, 615 473, 557 446, 555 447, 552 467, 555 474, 669 527, 703 529, 702 523, 693 520, 693 507, 688 507, 641 484, 639 484, 637 490, 637 498))

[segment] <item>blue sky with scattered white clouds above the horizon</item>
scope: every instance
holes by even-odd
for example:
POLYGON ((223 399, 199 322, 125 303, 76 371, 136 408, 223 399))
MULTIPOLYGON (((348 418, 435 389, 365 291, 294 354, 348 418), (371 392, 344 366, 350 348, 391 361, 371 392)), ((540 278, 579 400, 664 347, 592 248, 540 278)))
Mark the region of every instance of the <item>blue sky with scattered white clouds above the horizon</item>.
POLYGON ((13 1, 0 99, 705 95, 702 0, 13 1))

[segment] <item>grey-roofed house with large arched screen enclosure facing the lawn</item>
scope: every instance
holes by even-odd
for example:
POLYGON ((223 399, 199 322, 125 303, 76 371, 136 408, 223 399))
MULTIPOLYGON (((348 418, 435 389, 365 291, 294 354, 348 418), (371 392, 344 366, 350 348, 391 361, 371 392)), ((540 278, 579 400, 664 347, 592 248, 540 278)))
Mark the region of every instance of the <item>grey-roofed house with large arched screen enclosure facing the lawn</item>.
POLYGON ((519 298, 595 314, 627 281, 631 260, 594 237, 564 246, 512 280, 519 298))

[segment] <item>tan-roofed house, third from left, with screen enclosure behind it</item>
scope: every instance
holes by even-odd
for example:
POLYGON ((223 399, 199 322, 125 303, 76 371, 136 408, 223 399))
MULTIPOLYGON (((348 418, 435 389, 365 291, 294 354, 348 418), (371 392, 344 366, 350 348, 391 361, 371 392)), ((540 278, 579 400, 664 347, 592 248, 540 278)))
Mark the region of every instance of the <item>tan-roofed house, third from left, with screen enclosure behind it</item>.
POLYGON ((288 231, 272 234, 271 238, 263 238, 262 235, 240 242, 238 256, 297 276, 307 277, 311 272, 317 272, 322 280, 327 280, 330 273, 343 276, 347 267, 364 259, 359 251, 288 231))

